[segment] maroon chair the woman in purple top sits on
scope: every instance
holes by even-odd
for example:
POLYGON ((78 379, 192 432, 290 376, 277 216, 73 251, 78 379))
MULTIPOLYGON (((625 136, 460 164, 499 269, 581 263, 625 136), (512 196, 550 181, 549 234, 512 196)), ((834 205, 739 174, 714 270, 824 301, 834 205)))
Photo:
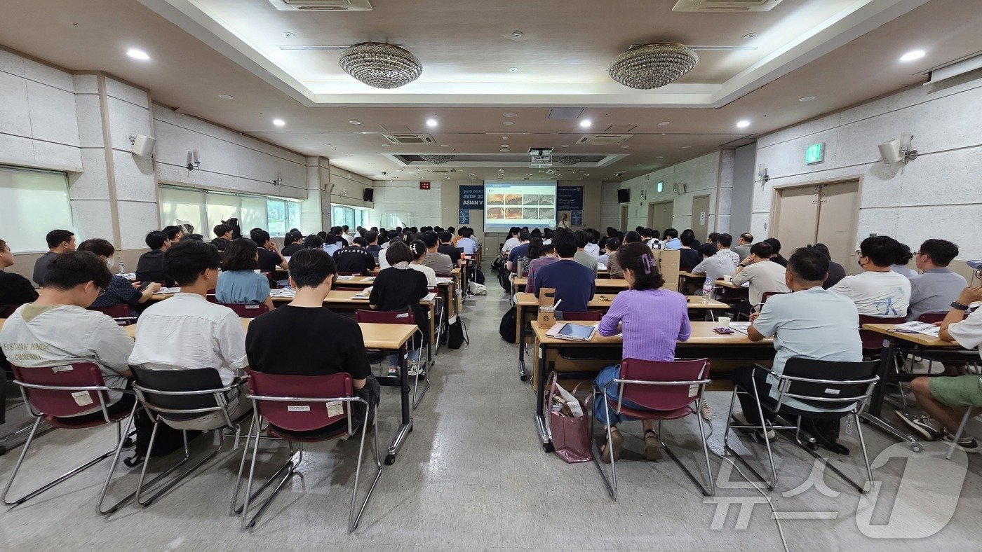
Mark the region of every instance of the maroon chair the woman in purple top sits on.
MULTIPOLYGON (((610 420, 611 412, 627 416, 634 420, 657 420, 658 440, 665 452, 679 465, 682 472, 692 480, 702 494, 712 496, 716 492, 716 481, 713 479, 713 468, 709 463, 709 445, 706 443, 705 429, 698 417, 699 407, 709 379, 709 360, 679 360, 674 362, 642 361, 624 359, 621 361, 621 376, 611 380, 603 389, 594 382, 595 400, 603 400, 604 419, 610 420), (693 393, 693 391, 695 391, 693 393), (611 396, 613 394, 613 396, 611 396), (706 476, 709 482, 707 489, 702 482, 689 472, 679 458, 667 447, 662 440, 662 421, 680 420, 686 416, 696 415, 699 426, 699 437, 702 441, 702 452, 706 461, 706 476)), ((590 417, 593 410, 590 410, 590 417)), ((591 421, 592 422, 592 421, 591 421)), ((591 431, 593 424, 590 425, 591 431)), ((596 440, 595 436, 592 440, 596 440)), ((607 442, 611 440, 611 428, 607 427, 607 442)), ((611 478, 608 479, 599 464, 599 452, 593 455, 594 463, 600 477, 607 485, 611 498, 617 500, 617 467, 611 462, 611 478)))

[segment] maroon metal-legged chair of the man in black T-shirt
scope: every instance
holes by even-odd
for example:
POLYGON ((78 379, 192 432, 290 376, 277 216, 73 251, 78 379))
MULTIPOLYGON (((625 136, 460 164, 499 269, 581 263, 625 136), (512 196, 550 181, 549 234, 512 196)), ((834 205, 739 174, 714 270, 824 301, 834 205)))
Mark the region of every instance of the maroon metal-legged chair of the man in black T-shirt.
POLYGON ((365 421, 360 427, 361 437, 358 445, 357 464, 355 465, 355 485, 352 489, 352 506, 348 518, 348 532, 354 531, 358 527, 361 513, 364 512, 372 491, 375 490, 378 478, 382 476, 382 462, 378 456, 378 417, 372 412, 371 405, 355 396, 352 376, 348 374, 282 376, 251 372, 248 375, 248 387, 250 391, 248 398, 252 400, 255 416, 252 417, 252 424, 246 437, 246 447, 243 451, 242 462, 239 465, 239 477, 236 478, 236 488, 232 496, 233 511, 235 513, 241 512, 243 515, 242 527, 253 527, 259 516, 276 498, 284 484, 297 473, 300 462, 303 461, 303 443, 322 442, 355 435, 353 407, 355 403, 360 403, 364 405, 365 421), (361 459, 369 423, 372 424, 375 433, 375 465, 378 471, 375 473, 368 494, 355 516, 358 478, 361 476, 361 459), (267 425, 265 437, 262 436, 261 430, 264 424, 267 425), (246 499, 242 507, 236 508, 242 475, 246 467, 249 440, 253 438, 255 442, 252 445, 252 460, 249 465, 248 482, 246 483, 246 499), (290 445, 290 458, 253 495, 252 478, 255 475, 255 459, 261 438, 287 441, 290 445), (296 453, 294 443, 299 444, 296 453), (286 474, 280 478, 280 481, 273 487, 273 492, 263 501, 255 515, 249 520, 249 504, 284 471, 286 474))

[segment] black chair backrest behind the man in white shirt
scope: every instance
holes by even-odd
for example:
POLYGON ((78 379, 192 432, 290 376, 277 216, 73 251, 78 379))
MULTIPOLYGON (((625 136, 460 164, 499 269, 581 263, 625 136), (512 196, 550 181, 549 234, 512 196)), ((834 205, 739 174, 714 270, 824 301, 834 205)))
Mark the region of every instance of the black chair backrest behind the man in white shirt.
POLYGON ((217 412, 222 407, 215 399, 216 390, 222 389, 222 377, 213 368, 188 370, 151 370, 131 367, 135 379, 134 389, 147 408, 156 411, 166 420, 185 421, 217 412), (205 391, 188 395, 171 395, 165 392, 205 391), (191 411, 175 413, 167 411, 191 411))

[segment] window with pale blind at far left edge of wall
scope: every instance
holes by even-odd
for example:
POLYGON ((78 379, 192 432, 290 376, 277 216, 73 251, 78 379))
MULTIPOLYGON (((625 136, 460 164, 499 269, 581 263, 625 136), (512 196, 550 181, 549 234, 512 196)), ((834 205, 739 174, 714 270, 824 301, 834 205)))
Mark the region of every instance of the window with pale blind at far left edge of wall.
POLYGON ((75 231, 64 173, 0 166, 0 198, 0 239, 14 253, 47 251, 53 229, 75 231))

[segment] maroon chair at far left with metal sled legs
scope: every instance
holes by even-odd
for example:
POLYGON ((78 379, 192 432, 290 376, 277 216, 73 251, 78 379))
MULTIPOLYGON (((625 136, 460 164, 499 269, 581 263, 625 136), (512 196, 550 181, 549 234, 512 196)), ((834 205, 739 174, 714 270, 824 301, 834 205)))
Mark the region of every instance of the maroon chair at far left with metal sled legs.
POLYGON ((131 493, 108 510, 102 509, 106 491, 109 489, 109 483, 119 463, 120 453, 123 451, 124 436, 130 433, 130 427, 133 425, 133 414, 136 412, 137 405, 133 392, 106 385, 98 365, 90 362, 45 368, 14 366, 13 369, 14 382, 21 387, 24 404, 27 406, 27 412, 34 418, 34 425, 30 429, 27 442, 24 444, 24 449, 21 450, 21 456, 14 466, 7 486, 4 487, 3 503, 12 507, 23 504, 110 456, 113 457, 113 463, 109 468, 105 483, 102 485, 102 491, 99 493, 97 505, 99 514, 103 516, 112 514, 133 499, 136 493, 131 493), (109 404, 108 395, 111 390, 124 393, 123 398, 112 405, 109 404), (93 409, 95 409, 94 412, 93 409), (125 430, 122 428, 124 419, 129 419, 125 430), (30 448, 42 420, 48 426, 60 429, 84 429, 116 424, 118 428, 117 443, 113 449, 96 456, 64 476, 45 483, 21 498, 10 500, 8 499, 10 487, 14 484, 14 479, 21 470, 24 459, 27 457, 27 450, 30 448))

